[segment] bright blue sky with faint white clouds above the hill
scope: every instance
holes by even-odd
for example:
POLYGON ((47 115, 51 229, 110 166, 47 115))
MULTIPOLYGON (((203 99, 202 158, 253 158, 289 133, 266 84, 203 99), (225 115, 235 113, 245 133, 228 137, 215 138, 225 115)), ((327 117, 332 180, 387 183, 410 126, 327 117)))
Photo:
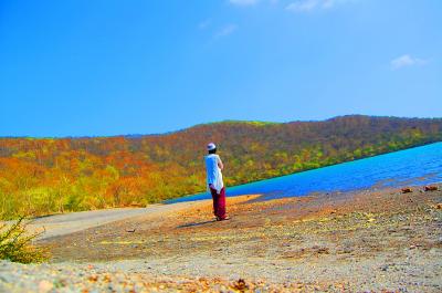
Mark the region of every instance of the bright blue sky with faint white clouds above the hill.
POLYGON ((440 0, 0 2, 0 136, 442 115, 440 0))

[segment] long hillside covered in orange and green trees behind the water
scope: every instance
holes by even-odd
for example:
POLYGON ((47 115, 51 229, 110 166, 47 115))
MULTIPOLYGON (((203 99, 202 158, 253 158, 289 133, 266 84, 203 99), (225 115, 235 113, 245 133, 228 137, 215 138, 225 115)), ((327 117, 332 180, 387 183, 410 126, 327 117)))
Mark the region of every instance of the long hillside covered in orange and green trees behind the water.
POLYGON ((0 138, 0 212, 146 205, 206 190, 214 142, 228 186, 442 140, 442 118, 222 122, 165 135, 0 138))

